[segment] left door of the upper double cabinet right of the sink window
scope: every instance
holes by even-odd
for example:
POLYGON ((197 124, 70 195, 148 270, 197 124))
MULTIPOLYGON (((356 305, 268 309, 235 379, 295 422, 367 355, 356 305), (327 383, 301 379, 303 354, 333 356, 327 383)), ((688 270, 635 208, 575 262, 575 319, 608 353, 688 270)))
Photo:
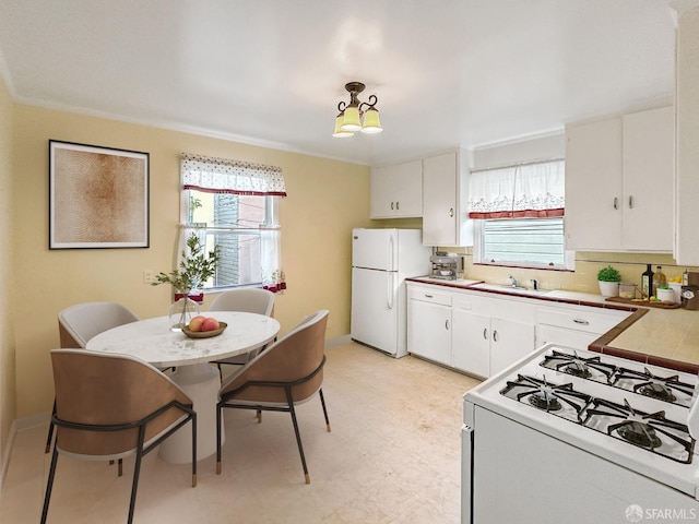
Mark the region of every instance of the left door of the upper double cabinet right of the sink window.
POLYGON ((566 128, 566 249, 621 247, 621 119, 566 128))

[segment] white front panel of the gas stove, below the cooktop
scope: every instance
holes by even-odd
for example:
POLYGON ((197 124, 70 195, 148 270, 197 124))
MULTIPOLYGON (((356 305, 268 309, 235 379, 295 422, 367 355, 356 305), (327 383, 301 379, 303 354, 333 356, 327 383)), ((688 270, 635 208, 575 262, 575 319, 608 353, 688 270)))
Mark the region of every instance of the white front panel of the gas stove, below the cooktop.
POLYGON ((465 513, 471 520, 462 522, 590 524, 699 517, 694 497, 489 409, 475 406, 474 412, 472 497, 465 513))

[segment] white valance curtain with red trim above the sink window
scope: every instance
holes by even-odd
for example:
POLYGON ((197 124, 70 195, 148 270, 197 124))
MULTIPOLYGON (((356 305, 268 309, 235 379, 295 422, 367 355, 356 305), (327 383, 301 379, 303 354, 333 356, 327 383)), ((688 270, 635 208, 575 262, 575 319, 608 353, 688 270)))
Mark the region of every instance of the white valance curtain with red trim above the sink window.
POLYGON ((471 174, 471 218, 562 216, 565 206, 564 160, 537 162, 471 174))

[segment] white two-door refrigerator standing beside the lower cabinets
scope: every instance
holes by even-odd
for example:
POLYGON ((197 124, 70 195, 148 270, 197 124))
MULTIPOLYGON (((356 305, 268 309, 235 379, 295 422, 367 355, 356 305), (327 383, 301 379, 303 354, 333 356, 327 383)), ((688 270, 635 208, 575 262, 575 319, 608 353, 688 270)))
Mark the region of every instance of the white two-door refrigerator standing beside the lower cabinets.
POLYGON ((419 229, 352 230, 353 341, 407 355, 404 279, 429 273, 431 249, 419 229))

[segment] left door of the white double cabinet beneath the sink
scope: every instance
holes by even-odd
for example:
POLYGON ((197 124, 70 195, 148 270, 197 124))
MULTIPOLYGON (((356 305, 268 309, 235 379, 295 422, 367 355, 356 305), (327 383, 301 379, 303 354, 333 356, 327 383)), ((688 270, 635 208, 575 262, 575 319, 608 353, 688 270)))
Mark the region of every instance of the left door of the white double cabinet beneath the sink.
POLYGON ((452 366, 490 377, 490 317, 455 308, 452 313, 452 366))

